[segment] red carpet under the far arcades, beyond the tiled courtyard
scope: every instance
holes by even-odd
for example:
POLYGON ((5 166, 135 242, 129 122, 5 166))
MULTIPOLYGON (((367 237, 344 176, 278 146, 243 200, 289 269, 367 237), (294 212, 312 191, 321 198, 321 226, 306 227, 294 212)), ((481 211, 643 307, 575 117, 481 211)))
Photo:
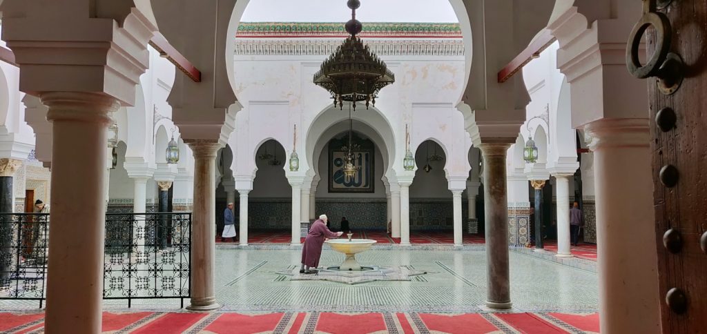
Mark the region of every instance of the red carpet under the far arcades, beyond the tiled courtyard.
MULTIPOLYGON (((291 241, 291 232, 286 230, 251 230, 248 232, 248 244, 289 244, 291 241)), ((354 231, 356 239, 373 239, 378 241, 378 244, 399 244, 400 238, 390 237, 390 234, 382 230, 360 230, 354 231)), ((484 244, 484 234, 467 234, 462 236, 464 244, 484 244)), ((304 241, 304 238, 301 239, 304 241)), ((221 238, 216 238, 217 243, 221 243, 221 238)), ((238 237, 236 238, 238 242, 238 237)), ((557 253, 557 241, 544 241, 546 251, 557 253)), ((228 239, 226 244, 233 244, 232 239, 228 239)), ((454 234, 451 231, 413 231, 410 232, 411 244, 454 244, 454 234)), ((597 261, 597 245, 595 244, 579 244, 572 246, 571 252, 573 256, 584 258, 591 261, 597 261)))

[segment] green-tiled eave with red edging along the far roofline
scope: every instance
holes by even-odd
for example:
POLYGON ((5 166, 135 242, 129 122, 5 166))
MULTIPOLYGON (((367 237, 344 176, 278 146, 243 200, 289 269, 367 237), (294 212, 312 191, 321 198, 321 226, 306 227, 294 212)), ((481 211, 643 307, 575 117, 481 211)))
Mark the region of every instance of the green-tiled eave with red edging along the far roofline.
MULTIPOLYGON (((236 37, 301 38, 341 37, 349 33, 341 22, 243 22, 236 37)), ((459 23, 363 23, 359 37, 373 38, 462 38, 459 23)))

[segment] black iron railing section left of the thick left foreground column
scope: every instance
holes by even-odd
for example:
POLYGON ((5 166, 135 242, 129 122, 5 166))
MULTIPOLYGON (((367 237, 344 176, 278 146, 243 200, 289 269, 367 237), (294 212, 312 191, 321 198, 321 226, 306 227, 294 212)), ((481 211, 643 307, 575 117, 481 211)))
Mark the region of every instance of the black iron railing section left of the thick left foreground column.
POLYGON ((0 214, 0 299, 45 299, 48 213, 0 214))

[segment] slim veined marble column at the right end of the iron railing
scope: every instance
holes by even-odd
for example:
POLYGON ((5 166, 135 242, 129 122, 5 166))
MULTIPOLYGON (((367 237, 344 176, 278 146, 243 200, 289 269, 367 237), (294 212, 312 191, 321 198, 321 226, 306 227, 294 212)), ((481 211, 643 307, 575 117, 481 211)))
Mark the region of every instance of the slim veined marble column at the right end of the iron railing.
POLYGON ((194 154, 194 209, 192 213, 192 299, 187 309, 211 311, 221 305, 214 296, 216 249, 216 141, 185 140, 194 154))

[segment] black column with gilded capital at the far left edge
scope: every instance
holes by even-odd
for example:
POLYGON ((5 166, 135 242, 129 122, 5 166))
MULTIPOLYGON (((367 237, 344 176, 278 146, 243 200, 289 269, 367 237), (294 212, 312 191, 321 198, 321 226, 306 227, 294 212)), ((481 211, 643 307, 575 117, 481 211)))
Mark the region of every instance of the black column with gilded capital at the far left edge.
MULTIPOLYGON (((13 213, 13 174, 21 165, 21 160, 3 158, 0 159, 0 213, 13 213)), ((1 217, 4 221, 12 222, 11 217, 1 217)), ((13 244, 12 224, 0 224, 0 283, 5 285, 10 278, 10 266, 13 258, 11 247, 13 244)), ((18 240, 17 242, 21 242, 18 240)))

